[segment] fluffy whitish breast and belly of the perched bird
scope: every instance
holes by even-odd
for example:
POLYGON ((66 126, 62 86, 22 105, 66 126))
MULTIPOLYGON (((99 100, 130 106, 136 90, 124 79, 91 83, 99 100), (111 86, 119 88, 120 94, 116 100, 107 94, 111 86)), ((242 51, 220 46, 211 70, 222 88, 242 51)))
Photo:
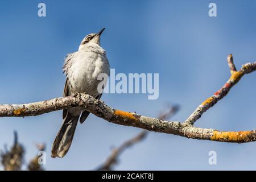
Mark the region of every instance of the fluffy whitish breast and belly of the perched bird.
POLYGON ((85 92, 96 97, 98 95, 97 86, 100 82, 97 80, 98 75, 100 73, 109 75, 109 61, 104 49, 98 45, 88 46, 87 49, 80 49, 72 56, 68 56, 65 64, 67 64, 67 61, 72 63, 66 73, 70 83, 70 94, 85 92))

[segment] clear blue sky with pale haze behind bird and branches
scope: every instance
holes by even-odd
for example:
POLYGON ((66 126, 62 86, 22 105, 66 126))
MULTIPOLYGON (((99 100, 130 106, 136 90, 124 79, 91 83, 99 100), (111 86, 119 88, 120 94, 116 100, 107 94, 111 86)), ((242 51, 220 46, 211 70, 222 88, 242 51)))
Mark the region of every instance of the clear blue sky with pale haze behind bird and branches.
MULTIPOLYGON (((42 1, 47 16, 38 17, 41 1, 1 1, 0 103, 21 104, 60 97, 64 56, 78 49, 86 34, 106 27, 101 46, 117 73, 159 73, 159 98, 146 94, 105 94, 109 106, 156 117, 171 102, 184 121, 216 92, 230 73, 226 57, 237 68, 256 60, 256 2, 247 1, 42 1), (208 5, 217 5, 217 17, 208 5)), ((218 130, 256 128, 256 73, 242 78, 196 126, 218 130)), ((47 144, 46 169, 84 170, 98 167, 113 146, 141 130, 114 125, 90 114, 78 125, 63 159, 51 158, 51 145, 61 125, 61 111, 38 117, 0 118, 0 148, 13 143, 13 131, 26 147, 47 144)), ((115 169, 256 169, 255 143, 220 143, 150 133, 126 150, 115 169), (217 152, 217 165, 208 152, 217 152)))

